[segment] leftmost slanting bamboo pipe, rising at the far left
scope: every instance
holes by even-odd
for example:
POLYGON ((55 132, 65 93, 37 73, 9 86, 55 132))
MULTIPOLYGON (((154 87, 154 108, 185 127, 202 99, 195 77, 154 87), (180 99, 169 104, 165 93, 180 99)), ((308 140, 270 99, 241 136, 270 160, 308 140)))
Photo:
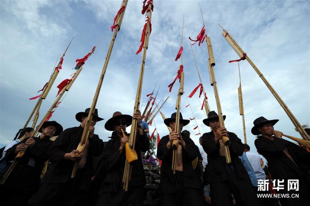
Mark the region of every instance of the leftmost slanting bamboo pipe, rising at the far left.
MULTIPOLYGON (((66 52, 67 52, 67 50, 68 50, 68 48, 69 48, 69 46, 70 46, 72 40, 73 40, 73 37, 72 37, 71 41, 69 42, 69 45, 67 46, 66 50, 64 51, 64 55, 66 54, 66 52)), ((56 67, 57 69, 54 68, 54 71, 53 71, 53 73, 52 73, 52 75, 51 75, 51 77, 50 77, 50 80, 47 82, 47 85, 44 87, 44 90, 42 91, 42 94, 41 94, 40 98, 38 99, 38 101, 37 101, 36 105, 34 106, 32 112, 30 113, 30 115, 29 115, 29 117, 28 117, 28 120, 26 121, 26 123, 25 123, 23 129, 25 129, 25 128, 27 127, 27 125, 29 124, 30 119, 32 118, 34 112, 37 111, 37 113, 38 113, 38 111, 40 110, 40 106, 41 106, 42 100, 43 100, 43 99, 46 99, 47 94, 48 94, 49 91, 51 90, 51 87, 52 87, 52 85, 53 85, 53 83, 54 83, 54 81, 55 81, 55 79, 56 79, 56 77, 57 77, 57 75, 58 75, 58 73, 59 73, 58 68, 59 68, 60 65, 61 65, 61 61, 62 61, 64 55, 60 58, 59 63, 58 63, 58 65, 57 65, 57 67, 56 67)), ((34 126, 35 126, 35 125, 34 125, 34 126)), ((33 127, 33 128, 34 128, 34 127, 33 127)))

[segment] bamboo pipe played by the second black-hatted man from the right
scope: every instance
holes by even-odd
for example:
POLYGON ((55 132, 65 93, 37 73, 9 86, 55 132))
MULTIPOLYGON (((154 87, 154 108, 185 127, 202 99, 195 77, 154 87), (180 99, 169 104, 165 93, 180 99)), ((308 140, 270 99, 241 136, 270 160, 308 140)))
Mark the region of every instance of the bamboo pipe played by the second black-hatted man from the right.
MULTIPOLYGON (((215 100, 216 100, 216 106, 217 106, 217 111, 219 113, 219 124, 220 127, 225 127, 224 124, 224 119, 223 119, 223 113, 222 113, 222 107, 221 107, 221 103, 219 100, 219 92, 217 90, 217 84, 216 84, 216 80, 215 80, 215 74, 214 74, 214 69, 213 67, 215 66, 215 60, 214 60, 214 56, 213 56, 213 51, 212 51, 212 46, 211 46, 211 41, 210 41, 210 37, 206 37, 206 42, 207 42, 207 46, 208 46, 208 53, 209 53, 209 60, 208 60, 208 67, 210 68, 210 73, 213 79, 213 90, 214 90, 214 95, 215 95, 215 100), (212 62, 210 61, 212 59, 212 62)), ((231 163, 231 159, 230 159, 230 152, 229 152, 229 139, 228 137, 224 136, 222 137, 222 141, 224 143, 224 151, 225 151, 225 156, 226 156, 226 162, 227 163, 231 163)))

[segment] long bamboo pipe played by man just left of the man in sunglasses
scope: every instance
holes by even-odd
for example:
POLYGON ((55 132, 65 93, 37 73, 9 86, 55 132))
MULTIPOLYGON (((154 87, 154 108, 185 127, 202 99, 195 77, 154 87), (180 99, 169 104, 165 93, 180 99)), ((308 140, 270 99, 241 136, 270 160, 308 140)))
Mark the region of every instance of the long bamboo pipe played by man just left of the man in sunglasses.
MULTIPOLYGON (((105 72, 106 72, 107 67, 108 67, 110 56, 112 54, 112 50, 113 50, 114 42, 115 42, 115 39, 116 39, 116 35, 117 35, 118 31, 120 30, 121 25, 122 25, 122 20, 123 20, 125 11, 126 11, 127 3, 128 3, 128 0, 123 0, 122 4, 121 4, 121 7, 124 6, 125 9, 117 17, 116 28, 114 30, 114 33, 113 33, 113 36, 112 36, 112 40, 111 40, 110 46, 108 48, 108 53, 107 53, 107 55, 105 57, 104 65, 103 65, 102 72, 101 72, 101 75, 100 75, 100 79, 99 79, 99 82, 98 82, 98 85, 97 85, 97 89, 95 91, 93 102, 91 104, 91 109, 90 109, 90 112, 89 112, 89 114, 87 116, 86 125, 85 125, 84 130, 83 130, 81 142, 79 143, 79 145, 77 147, 77 150, 79 150, 79 151, 83 151, 84 150, 87 138, 89 136, 89 126, 91 124, 93 113, 95 112, 95 107, 96 107, 96 104, 97 104, 97 101, 98 101, 98 97, 99 97, 99 94, 100 94, 100 90, 101 90, 102 82, 103 82, 103 79, 104 79, 104 75, 105 75, 105 72)), ((78 162, 76 162, 74 164, 74 166, 73 166, 71 178, 75 177, 77 169, 78 169, 78 162)))

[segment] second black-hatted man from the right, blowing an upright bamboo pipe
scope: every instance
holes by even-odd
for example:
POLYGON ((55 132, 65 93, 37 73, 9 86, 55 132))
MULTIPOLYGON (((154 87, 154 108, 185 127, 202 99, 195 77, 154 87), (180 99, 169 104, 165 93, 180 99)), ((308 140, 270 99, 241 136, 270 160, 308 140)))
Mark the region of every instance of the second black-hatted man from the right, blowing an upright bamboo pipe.
POLYGON ((236 134, 220 127, 219 116, 214 111, 209 112, 203 123, 212 128, 211 132, 202 135, 202 147, 208 155, 207 181, 210 182, 212 206, 232 206, 232 194, 238 206, 260 205, 249 174, 238 157, 244 152, 241 140, 236 134), (226 163, 224 136, 230 142, 230 164, 226 163))

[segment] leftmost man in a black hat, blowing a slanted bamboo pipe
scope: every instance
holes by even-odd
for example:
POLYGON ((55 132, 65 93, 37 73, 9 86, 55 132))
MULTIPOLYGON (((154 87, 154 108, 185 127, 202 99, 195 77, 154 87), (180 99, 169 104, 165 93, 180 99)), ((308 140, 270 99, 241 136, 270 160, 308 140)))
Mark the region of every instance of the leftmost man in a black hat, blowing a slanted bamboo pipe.
POLYGON ((5 160, 11 161, 26 145, 28 146, 5 182, 5 191, 1 192, 1 199, 7 204, 3 205, 28 205, 38 187, 44 163, 47 161, 47 150, 53 143, 50 137, 59 135, 62 130, 62 126, 56 121, 44 122, 39 129, 39 137, 26 138, 7 150, 5 160))

